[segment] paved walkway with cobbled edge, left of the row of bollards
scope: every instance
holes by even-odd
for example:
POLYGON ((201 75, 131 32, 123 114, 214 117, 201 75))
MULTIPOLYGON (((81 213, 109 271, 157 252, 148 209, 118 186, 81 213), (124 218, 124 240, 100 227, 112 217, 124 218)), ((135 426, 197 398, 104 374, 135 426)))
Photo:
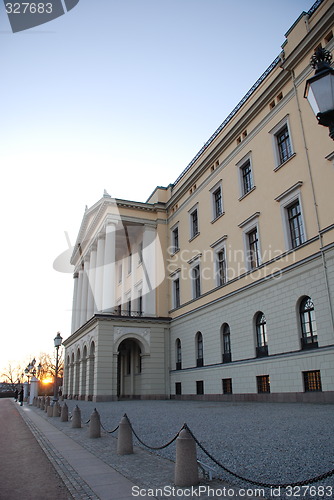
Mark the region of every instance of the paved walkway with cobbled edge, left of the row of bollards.
POLYGON ((13 400, 0 401, 0 428, 6 429, 7 443, 0 455, 2 464, 7 464, 5 469, 1 464, 0 469, 0 499, 3 500, 19 500, 22 497, 29 500, 250 498, 244 493, 239 496, 237 490, 218 481, 203 480, 201 489, 196 490, 176 488, 172 482, 174 463, 170 460, 137 447, 133 455, 117 456, 117 440, 107 432, 103 432, 101 438, 89 439, 87 428, 72 429, 69 422, 47 417, 45 412, 34 406, 25 404, 20 407, 13 400), (5 420, 13 425, 4 426, 5 420), (13 436, 21 433, 25 433, 27 445, 14 446, 17 438, 13 440, 13 436), (113 467, 108 464, 110 455, 113 456, 113 467), (36 457, 44 461, 39 462, 36 457), (117 472, 117 468, 122 473, 117 472), (3 476, 6 478, 4 481, 3 476), (15 481, 15 478, 18 478, 16 482, 21 481, 22 486, 19 484, 14 490, 12 480, 15 481))

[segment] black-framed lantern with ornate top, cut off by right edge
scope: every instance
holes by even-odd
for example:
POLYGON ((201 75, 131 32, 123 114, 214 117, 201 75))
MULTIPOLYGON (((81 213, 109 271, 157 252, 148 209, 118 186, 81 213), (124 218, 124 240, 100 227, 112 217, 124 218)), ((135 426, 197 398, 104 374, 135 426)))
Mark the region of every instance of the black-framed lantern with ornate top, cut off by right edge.
POLYGON ((314 76, 306 81, 304 97, 317 117, 319 125, 329 128, 329 137, 334 140, 334 69, 332 54, 318 48, 311 57, 314 76))

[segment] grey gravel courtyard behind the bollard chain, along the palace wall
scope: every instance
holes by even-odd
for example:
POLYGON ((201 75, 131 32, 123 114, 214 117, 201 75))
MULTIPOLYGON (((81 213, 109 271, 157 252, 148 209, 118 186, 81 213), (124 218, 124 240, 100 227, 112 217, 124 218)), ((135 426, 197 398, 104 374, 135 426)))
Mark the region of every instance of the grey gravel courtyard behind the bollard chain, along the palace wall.
MULTIPOLYGON (((254 481, 290 484, 334 469, 332 404, 73 400, 66 400, 66 404, 70 411, 78 404, 83 421, 96 408, 108 430, 114 429, 126 413, 141 440, 153 447, 168 442, 187 423, 211 455, 231 471, 254 481)), ((138 444, 136 439, 134 444, 138 444)), ((156 453, 175 460, 175 442, 156 453)), ((222 471, 199 449, 198 458, 224 481, 242 488, 256 487, 222 471)), ((284 490, 275 497, 334 497, 334 476, 309 486, 284 490)), ((266 496, 273 496, 270 489, 266 489, 266 496)))

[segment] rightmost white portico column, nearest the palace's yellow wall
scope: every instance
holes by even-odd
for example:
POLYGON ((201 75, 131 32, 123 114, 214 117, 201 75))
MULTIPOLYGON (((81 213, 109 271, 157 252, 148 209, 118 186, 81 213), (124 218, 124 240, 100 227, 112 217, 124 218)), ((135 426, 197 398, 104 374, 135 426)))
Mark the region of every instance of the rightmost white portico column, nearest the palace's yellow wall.
POLYGON ((155 316, 156 288, 156 229, 145 225, 143 234, 143 315, 155 316))

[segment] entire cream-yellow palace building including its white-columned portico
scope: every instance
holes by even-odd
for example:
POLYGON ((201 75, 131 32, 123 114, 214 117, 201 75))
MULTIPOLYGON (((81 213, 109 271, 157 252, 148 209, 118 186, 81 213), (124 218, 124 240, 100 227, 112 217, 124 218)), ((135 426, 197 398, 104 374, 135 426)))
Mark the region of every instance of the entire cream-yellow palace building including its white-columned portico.
POLYGON ((174 183, 86 209, 65 397, 334 401, 334 143, 304 99, 333 21, 300 15, 174 183))

